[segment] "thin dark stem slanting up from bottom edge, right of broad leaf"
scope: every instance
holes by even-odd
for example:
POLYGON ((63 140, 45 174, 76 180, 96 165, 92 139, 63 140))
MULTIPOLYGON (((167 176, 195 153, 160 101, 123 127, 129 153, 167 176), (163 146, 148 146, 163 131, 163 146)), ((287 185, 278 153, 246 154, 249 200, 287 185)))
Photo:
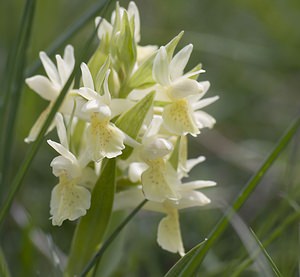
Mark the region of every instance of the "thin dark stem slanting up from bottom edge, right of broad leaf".
POLYGON ((98 264, 108 246, 114 241, 114 239, 118 236, 118 234, 123 230, 123 228, 128 224, 128 222, 138 213, 138 211, 147 203, 147 199, 142 201, 124 220, 123 222, 111 233, 111 235, 107 238, 107 240, 103 243, 98 252, 94 255, 94 257, 90 260, 90 262, 86 265, 82 273, 79 275, 80 277, 86 276, 89 271, 95 265, 95 271, 97 271, 98 264))

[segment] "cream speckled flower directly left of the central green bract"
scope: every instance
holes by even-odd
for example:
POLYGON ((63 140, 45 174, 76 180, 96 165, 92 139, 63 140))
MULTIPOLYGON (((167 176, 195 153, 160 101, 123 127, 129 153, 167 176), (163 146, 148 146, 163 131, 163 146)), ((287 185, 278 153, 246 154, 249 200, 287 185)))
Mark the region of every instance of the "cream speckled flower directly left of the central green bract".
POLYGON ((93 80, 87 65, 83 63, 81 70, 84 87, 79 89, 79 94, 87 100, 82 111, 90 121, 87 129, 89 155, 95 162, 99 162, 105 157, 117 157, 122 154, 122 150, 125 148, 125 135, 110 120, 124 109, 124 105, 121 105, 125 102, 118 102, 118 104, 113 105, 114 101, 112 101, 108 89, 110 71, 106 73, 103 82, 104 94, 100 95, 94 91, 93 80))

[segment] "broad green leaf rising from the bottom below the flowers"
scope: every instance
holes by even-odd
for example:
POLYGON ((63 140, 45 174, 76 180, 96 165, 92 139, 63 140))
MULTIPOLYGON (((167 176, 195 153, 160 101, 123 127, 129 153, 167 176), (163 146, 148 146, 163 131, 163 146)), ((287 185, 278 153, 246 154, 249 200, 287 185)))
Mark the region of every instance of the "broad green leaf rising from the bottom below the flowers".
POLYGON ((115 194, 116 161, 106 162, 92 191, 91 207, 76 227, 65 276, 78 275, 100 248, 115 194))

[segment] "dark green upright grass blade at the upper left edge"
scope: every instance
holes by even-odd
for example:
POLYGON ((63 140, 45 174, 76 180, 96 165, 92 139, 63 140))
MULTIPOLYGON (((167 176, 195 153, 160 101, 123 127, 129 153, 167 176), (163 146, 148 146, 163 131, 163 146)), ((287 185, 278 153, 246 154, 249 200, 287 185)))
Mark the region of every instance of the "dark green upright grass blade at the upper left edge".
POLYGON ((30 34, 35 11, 35 0, 28 0, 24 7, 24 13, 20 23, 17 41, 14 43, 12 52, 7 61, 8 76, 4 78, 3 109, 1 111, 1 130, 5 136, 1 139, 0 155, 0 195, 3 195, 5 183, 9 176, 9 165, 11 161, 12 145, 14 141, 15 121, 24 86, 24 71, 26 63, 26 52, 29 45, 30 34))

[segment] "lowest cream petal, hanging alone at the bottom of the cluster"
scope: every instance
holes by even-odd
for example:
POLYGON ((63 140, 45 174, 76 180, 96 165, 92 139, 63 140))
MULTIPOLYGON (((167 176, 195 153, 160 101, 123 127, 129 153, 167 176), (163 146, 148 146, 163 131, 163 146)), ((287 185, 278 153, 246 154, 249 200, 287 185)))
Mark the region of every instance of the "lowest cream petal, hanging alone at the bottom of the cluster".
POLYGON ((184 256, 178 212, 175 210, 158 225, 157 242, 165 250, 184 256))

